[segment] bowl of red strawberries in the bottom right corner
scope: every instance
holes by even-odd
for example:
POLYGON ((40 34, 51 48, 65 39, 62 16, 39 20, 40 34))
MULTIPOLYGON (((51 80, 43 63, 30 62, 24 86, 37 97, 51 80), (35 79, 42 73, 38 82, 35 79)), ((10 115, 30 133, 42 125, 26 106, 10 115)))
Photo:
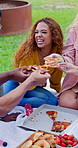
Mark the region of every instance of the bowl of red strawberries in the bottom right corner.
POLYGON ((78 148, 78 139, 73 135, 64 134, 56 138, 56 148, 78 148))

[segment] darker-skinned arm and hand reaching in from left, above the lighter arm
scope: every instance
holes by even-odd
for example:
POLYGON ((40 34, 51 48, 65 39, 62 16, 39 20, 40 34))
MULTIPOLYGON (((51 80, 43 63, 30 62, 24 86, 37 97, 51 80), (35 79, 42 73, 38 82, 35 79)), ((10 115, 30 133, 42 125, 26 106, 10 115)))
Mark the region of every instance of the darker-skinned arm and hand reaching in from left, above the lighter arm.
POLYGON ((0 85, 8 80, 23 82, 29 76, 29 73, 26 70, 26 66, 23 66, 0 74, 0 85))

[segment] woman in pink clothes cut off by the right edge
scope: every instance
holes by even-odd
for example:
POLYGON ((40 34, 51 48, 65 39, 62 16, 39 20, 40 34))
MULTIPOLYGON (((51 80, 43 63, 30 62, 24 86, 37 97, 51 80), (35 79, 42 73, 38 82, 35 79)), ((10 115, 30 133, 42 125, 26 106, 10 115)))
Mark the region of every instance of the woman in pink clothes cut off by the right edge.
MULTIPOLYGON (((51 57, 59 57, 58 54, 52 54, 51 57)), ((69 62, 78 66, 78 14, 68 29, 67 42, 64 46, 62 54, 63 62, 69 62)), ((68 73, 68 70, 62 63, 60 69, 66 72, 62 89, 60 91, 59 104, 60 106, 78 110, 78 76, 73 73, 68 73)))

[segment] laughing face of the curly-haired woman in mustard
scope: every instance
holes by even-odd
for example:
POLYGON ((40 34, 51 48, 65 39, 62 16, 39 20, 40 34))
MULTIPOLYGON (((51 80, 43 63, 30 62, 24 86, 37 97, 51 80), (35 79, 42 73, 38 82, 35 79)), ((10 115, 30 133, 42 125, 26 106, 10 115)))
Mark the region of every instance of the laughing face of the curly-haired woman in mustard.
POLYGON ((49 48, 52 46, 52 35, 46 23, 38 23, 35 29, 35 41, 39 48, 49 48))

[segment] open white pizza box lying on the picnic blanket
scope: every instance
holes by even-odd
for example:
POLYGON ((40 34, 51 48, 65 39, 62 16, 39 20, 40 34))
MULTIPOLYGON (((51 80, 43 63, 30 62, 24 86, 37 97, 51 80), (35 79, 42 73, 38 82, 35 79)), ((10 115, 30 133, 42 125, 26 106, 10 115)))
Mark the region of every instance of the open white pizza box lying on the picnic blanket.
POLYGON ((56 135, 62 134, 62 132, 51 131, 53 120, 46 114, 46 111, 57 111, 57 121, 66 121, 73 124, 78 119, 77 110, 43 104, 31 113, 30 116, 25 118, 22 123, 19 123, 18 126, 32 131, 43 130, 49 133, 55 133, 56 135))

